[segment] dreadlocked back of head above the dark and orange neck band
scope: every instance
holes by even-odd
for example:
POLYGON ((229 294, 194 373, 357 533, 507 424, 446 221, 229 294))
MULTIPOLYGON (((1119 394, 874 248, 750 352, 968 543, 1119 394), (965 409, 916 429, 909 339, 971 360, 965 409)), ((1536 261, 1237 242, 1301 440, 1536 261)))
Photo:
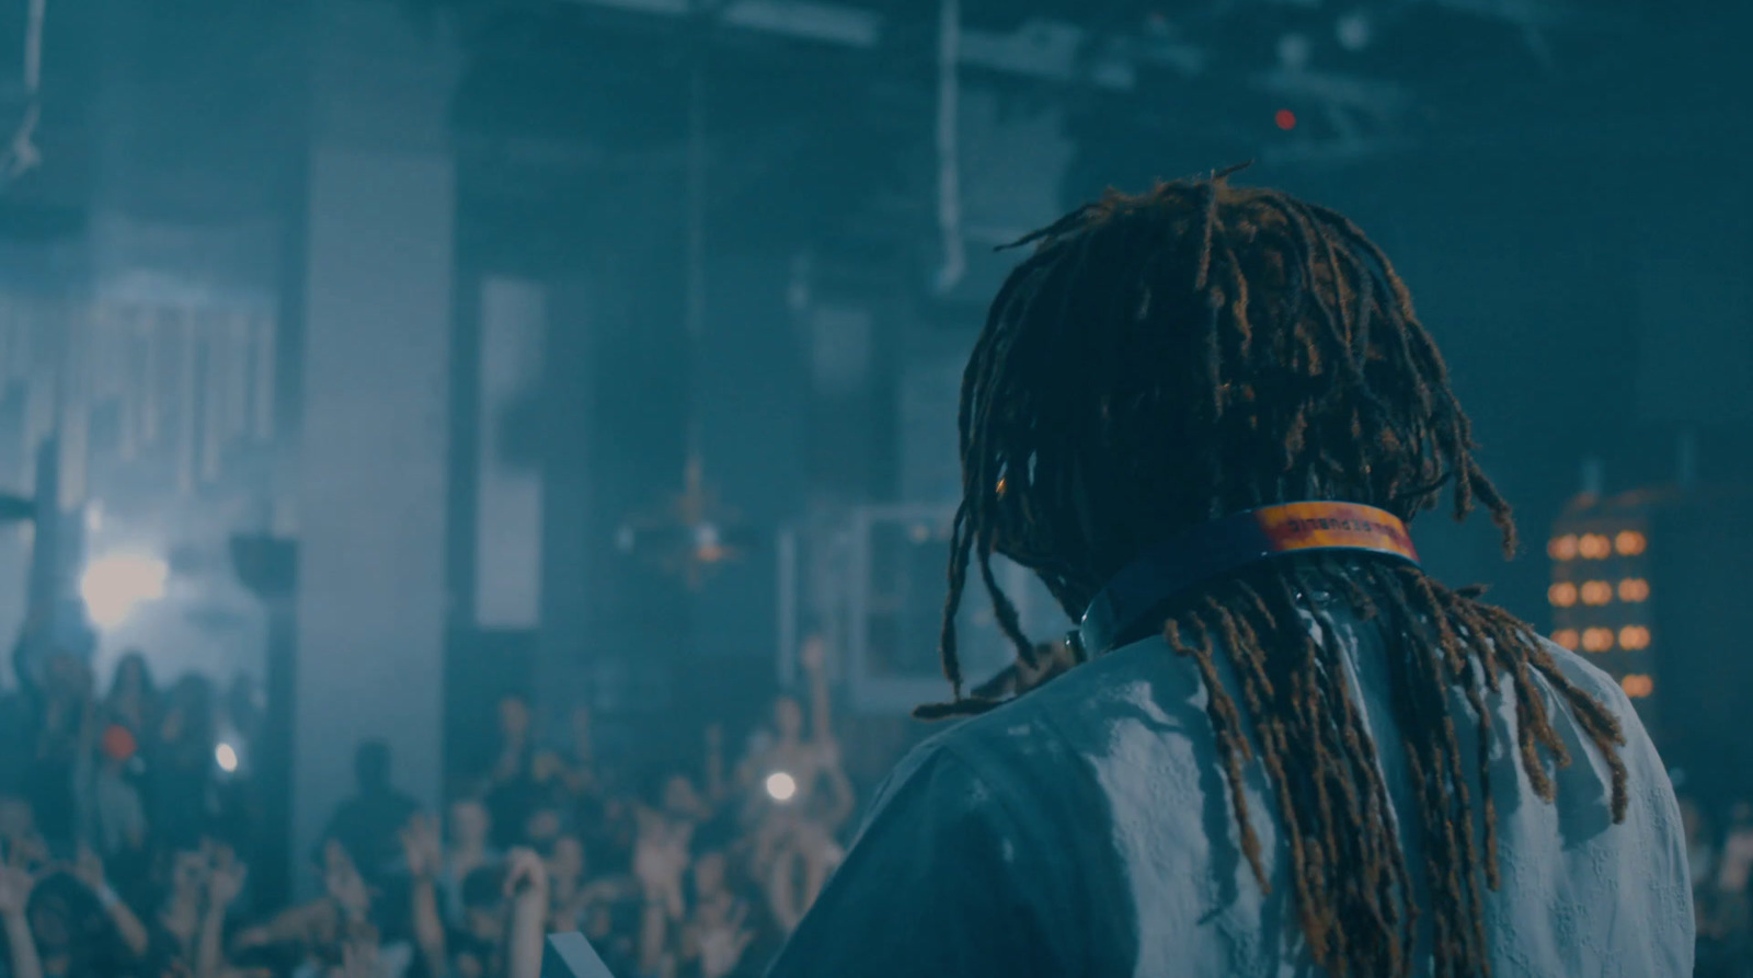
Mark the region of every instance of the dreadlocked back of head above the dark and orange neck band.
POLYGON ((1075 612, 1141 547, 1269 503, 1509 508, 1388 259, 1348 219, 1225 179, 1110 193, 1026 238, 962 386, 983 545, 1075 612))

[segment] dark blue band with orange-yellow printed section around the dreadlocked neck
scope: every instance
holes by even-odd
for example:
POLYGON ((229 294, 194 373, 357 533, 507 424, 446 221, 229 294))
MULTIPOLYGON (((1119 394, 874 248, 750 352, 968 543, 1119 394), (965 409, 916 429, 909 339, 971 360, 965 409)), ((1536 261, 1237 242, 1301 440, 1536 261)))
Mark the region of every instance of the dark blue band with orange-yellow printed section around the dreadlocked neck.
POLYGON ((1078 640, 1087 656, 1113 650, 1143 617, 1183 591, 1281 554, 1350 550, 1418 563, 1406 524, 1359 503, 1283 503, 1199 524, 1153 547, 1101 589, 1083 612, 1078 640))

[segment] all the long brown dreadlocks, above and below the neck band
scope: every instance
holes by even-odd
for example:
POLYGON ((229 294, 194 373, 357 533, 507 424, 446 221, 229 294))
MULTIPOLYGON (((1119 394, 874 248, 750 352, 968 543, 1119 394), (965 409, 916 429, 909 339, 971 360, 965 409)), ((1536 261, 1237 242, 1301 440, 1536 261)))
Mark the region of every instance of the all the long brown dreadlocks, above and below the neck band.
MULTIPOLYGON (((1076 620, 1139 543, 1280 501, 1367 503, 1411 521, 1446 487, 1455 519, 1483 505, 1515 552, 1509 505, 1473 456, 1443 358, 1387 256, 1339 214, 1227 175, 1110 191, 1017 242, 1034 252, 992 301, 962 377, 962 503, 941 633, 954 701, 920 717, 990 710, 1003 701, 994 692, 1017 694, 1018 677, 1040 673, 992 554, 1036 571, 1076 620), (1018 666, 964 696, 954 622, 969 571, 1018 666)), ((1483 887, 1497 887, 1497 829, 1487 696, 1504 680, 1536 794, 1551 801, 1546 764, 1571 761, 1539 677, 1609 764, 1613 819, 1623 820, 1615 713, 1571 684, 1529 626, 1478 594, 1369 557, 1292 556, 1164 610, 1164 638, 1208 692, 1243 855, 1269 887, 1243 792, 1245 764, 1259 762, 1285 826, 1301 931, 1332 974, 1409 974, 1420 911, 1432 918, 1437 976, 1488 973, 1481 903, 1483 887), (1395 648, 1390 684, 1429 908, 1413 901, 1339 638, 1301 619, 1311 591, 1380 620, 1395 648), (1220 680, 1220 657, 1241 703, 1220 680), (1473 759, 1457 738, 1457 696, 1478 722, 1473 759)))

